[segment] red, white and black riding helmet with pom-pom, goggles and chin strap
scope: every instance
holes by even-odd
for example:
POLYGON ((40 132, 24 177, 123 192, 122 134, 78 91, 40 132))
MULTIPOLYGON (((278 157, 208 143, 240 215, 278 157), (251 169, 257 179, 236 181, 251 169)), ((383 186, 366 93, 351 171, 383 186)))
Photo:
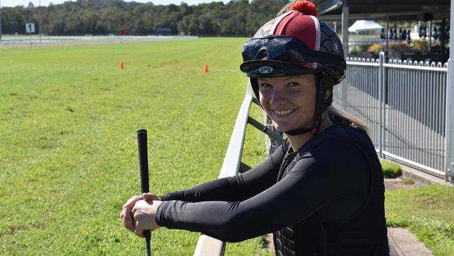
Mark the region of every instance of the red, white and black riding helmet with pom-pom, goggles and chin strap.
POLYGON ((342 42, 328 24, 318 20, 314 3, 298 1, 290 10, 263 25, 243 45, 241 71, 259 99, 259 77, 315 73, 318 78, 315 127, 285 131, 316 134, 321 114, 332 103, 332 87, 345 78, 342 42))

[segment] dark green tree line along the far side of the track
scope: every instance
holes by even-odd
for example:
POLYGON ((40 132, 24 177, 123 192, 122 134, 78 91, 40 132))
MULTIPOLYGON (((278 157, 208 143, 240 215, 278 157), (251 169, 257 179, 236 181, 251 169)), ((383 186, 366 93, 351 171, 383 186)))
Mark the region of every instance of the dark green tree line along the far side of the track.
POLYGON ((77 0, 49 6, 1 8, 3 34, 25 34, 25 24, 41 20, 47 35, 170 34, 251 36, 288 0, 232 0, 166 6, 122 0, 77 0), (41 17, 41 19, 40 19, 41 17), (170 31, 169 31, 170 29, 170 31))

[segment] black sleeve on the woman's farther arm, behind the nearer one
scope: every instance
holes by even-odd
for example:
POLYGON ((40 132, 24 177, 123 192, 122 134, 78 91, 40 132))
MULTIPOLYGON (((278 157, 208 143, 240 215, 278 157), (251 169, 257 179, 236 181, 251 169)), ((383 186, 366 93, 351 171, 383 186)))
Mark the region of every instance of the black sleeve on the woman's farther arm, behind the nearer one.
POLYGON ((258 166, 239 176, 219 178, 189 190, 181 190, 159 196, 163 201, 242 201, 271 187, 277 181, 277 173, 284 149, 279 147, 274 154, 258 166))

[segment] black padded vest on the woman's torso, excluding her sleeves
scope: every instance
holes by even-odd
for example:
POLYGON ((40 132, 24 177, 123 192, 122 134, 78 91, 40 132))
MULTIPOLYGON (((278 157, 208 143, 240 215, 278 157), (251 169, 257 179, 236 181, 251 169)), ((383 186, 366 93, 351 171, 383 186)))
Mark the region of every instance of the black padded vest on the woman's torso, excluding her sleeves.
MULTIPOLYGON (((343 222, 325 221, 315 212, 295 225, 274 232, 274 250, 277 256, 389 255, 381 164, 372 141, 364 131, 349 128, 344 130, 347 131, 347 136, 344 136, 345 143, 358 148, 369 165, 369 194, 365 204, 358 213, 343 222), (363 134, 358 136, 358 132, 363 134)), ((284 178, 287 171, 309 150, 305 151, 304 147, 303 152, 298 150, 298 155, 282 163, 278 181, 284 178)))

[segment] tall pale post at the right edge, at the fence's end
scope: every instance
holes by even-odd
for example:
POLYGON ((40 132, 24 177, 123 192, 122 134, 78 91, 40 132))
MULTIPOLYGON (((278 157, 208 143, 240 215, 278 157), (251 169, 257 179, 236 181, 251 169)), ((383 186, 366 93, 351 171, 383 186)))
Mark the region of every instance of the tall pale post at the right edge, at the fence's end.
MULTIPOLYGON (((451 0, 450 28, 454 26, 454 0, 451 0)), ((450 49, 454 49, 454 40, 450 40, 450 49)), ((454 59, 454 50, 449 51, 448 84, 446 85, 446 179, 451 177, 454 183, 454 74, 451 62, 454 59)))

